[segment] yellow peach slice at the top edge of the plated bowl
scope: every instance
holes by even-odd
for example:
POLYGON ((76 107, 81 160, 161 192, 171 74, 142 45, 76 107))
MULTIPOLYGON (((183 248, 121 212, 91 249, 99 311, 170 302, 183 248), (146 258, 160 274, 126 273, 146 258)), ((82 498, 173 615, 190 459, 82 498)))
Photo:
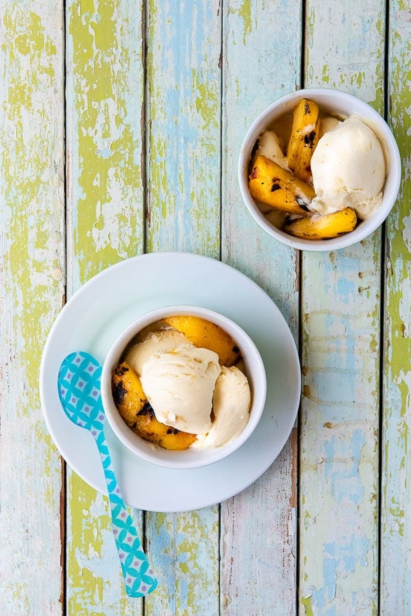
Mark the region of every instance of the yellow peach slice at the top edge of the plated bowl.
POLYGON ((199 349, 214 351, 219 356, 219 363, 222 366, 230 367, 240 357, 236 341, 216 323, 190 315, 168 317, 164 321, 178 332, 182 332, 199 349))

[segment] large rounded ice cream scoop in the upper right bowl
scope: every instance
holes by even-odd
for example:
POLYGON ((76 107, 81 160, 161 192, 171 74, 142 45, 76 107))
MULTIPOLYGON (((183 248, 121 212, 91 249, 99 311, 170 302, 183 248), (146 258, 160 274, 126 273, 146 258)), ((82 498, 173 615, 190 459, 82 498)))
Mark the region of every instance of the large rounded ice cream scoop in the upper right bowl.
POLYGON ((350 207, 364 220, 382 202, 384 152, 371 128, 358 118, 346 119, 321 137, 311 169, 314 212, 331 214, 350 207))

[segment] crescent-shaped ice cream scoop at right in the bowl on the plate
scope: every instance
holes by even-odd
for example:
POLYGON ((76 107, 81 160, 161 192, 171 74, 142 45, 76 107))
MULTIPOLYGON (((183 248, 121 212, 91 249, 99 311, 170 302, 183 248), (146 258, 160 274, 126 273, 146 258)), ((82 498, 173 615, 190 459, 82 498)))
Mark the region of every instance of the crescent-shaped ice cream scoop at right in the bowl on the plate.
POLYGON ((221 368, 213 397, 214 421, 210 432, 192 443, 205 449, 221 447, 236 439, 247 426, 251 392, 247 377, 235 366, 221 368))

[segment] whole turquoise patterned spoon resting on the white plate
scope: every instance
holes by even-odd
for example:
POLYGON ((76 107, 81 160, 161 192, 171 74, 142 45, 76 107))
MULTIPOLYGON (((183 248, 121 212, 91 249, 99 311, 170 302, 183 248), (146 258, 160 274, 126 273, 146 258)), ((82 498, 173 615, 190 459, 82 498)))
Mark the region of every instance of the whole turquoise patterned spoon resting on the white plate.
POLYGON ((125 590, 130 597, 144 597, 157 587, 138 539, 132 517, 127 513, 104 436, 105 414, 100 393, 101 365, 84 352, 71 353, 60 366, 58 394, 67 417, 90 430, 99 449, 112 513, 125 590))

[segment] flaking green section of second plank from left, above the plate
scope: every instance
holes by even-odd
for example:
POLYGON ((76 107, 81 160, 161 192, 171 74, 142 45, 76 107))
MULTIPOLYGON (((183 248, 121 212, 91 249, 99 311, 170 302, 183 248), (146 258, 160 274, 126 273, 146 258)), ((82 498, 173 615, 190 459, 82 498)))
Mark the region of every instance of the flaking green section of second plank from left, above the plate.
POLYGON ((141 28, 139 4, 67 4, 69 295, 144 246, 141 28))

